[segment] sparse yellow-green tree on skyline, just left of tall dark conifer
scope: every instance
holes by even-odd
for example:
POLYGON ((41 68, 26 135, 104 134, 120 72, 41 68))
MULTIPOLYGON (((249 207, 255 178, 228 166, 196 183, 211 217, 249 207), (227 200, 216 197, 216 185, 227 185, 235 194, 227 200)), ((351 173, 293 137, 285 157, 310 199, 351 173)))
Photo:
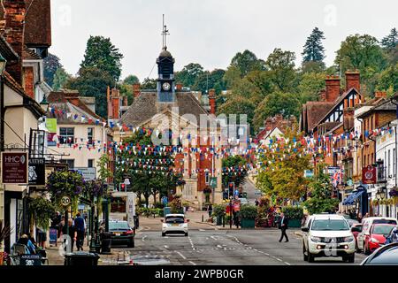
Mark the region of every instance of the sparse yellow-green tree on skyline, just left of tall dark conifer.
POLYGON ((281 91, 293 88, 295 80, 295 52, 284 51, 279 48, 273 50, 265 61, 270 70, 273 84, 281 91))

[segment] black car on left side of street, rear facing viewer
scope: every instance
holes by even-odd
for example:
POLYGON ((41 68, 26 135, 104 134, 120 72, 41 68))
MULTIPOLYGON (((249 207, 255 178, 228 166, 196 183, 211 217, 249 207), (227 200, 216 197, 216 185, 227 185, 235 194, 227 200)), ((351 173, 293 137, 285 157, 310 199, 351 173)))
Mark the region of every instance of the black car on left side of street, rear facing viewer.
POLYGON ((130 227, 127 221, 110 221, 109 232, 112 233, 112 245, 127 245, 128 248, 134 248, 135 229, 130 227))

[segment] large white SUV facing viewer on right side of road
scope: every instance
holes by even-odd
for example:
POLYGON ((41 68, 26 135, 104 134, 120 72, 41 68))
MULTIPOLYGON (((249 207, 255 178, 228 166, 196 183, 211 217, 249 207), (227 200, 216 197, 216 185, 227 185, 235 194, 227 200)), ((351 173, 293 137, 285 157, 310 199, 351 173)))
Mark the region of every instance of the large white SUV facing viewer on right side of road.
POLYGON ((354 263, 356 241, 347 220, 336 214, 310 216, 302 226, 302 252, 309 263, 320 256, 342 256, 344 262, 354 263))

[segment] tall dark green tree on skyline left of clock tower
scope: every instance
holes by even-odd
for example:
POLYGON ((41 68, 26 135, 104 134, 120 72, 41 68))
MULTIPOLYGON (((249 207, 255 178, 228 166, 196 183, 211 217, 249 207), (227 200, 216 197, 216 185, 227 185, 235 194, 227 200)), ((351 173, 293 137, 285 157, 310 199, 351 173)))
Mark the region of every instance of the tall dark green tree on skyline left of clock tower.
POLYGON ((88 68, 97 68, 111 75, 114 81, 118 81, 121 73, 123 55, 112 43, 110 38, 103 36, 90 36, 87 42, 86 53, 80 64, 80 71, 88 68))

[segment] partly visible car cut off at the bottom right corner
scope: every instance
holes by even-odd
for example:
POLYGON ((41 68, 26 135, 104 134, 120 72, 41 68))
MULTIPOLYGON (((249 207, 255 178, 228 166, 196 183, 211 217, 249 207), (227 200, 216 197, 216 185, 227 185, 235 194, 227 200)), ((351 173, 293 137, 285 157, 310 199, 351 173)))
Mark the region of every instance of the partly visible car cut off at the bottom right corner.
POLYGON ((376 249, 361 265, 398 265, 398 242, 376 249))

